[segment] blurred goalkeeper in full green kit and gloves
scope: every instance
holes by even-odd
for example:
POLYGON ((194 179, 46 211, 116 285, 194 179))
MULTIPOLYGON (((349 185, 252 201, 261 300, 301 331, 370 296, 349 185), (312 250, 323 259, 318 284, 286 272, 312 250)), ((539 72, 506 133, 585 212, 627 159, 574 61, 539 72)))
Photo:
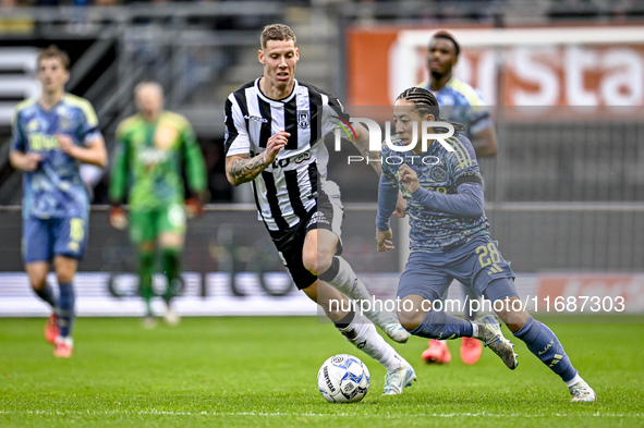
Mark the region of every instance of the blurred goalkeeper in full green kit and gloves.
POLYGON ((168 281, 162 297, 163 319, 179 322, 171 301, 180 284, 186 212, 195 217, 205 200, 206 167, 192 126, 180 114, 163 110, 163 89, 157 83, 138 84, 134 89, 137 114, 123 120, 117 129, 117 148, 109 195, 109 220, 119 230, 130 224, 130 239, 138 249, 138 289, 145 302, 145 327, 154 327, 153 272, 157 244, 168 281), (182 164, 190 198, 184 207, 182 164), (130 206, 130 219, 121 205, 130 206))

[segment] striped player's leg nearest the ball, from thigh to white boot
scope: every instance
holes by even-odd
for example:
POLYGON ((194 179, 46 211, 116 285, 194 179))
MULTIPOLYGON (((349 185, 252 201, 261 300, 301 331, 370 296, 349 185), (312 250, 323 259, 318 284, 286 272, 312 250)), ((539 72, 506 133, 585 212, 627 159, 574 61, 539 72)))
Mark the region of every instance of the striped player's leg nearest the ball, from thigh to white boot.
POLYGON ((315 281, 304 293, 325 310, 344 338, 387 369, 385 394, 400 394, 416 380, 412 366, 380 334, 374 323, 355 310, 347 295, 324 281, 315 281))

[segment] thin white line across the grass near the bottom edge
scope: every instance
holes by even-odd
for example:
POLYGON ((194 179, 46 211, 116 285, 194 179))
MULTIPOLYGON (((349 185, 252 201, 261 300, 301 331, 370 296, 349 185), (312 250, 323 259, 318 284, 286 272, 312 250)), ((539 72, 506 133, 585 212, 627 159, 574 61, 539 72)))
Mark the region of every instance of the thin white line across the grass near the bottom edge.
MULTIPOLYGON (((295 416, 295 417, 347 417, 347 416, 356 416, 356 413, 292 413, 292 412, 167 412, 167 411, 0 411, 0 415, 161 415, 161 416, 295 416)), ((369 415, 363 415, 369 416, 369 415)), ((378 417, 385 417, 388 419, 397 418, 397 417, 442 417, 442 418, 452 418, 452 417, 491 417, 491 418, 501 418, 501 417, 534 417, 534 418, 544 418, 544 417, 576 417, 576 416, 592 416, 592 417, 608 417, 608 418, 619 418, 619 417, 644 417, 644 413, 594 413, 592 415, 580 415, 575 414, 566 414, 566 413, 552 413, 552 414, 521 414, 521 413, 416 413, 413 415, 373 415, 378 417)))

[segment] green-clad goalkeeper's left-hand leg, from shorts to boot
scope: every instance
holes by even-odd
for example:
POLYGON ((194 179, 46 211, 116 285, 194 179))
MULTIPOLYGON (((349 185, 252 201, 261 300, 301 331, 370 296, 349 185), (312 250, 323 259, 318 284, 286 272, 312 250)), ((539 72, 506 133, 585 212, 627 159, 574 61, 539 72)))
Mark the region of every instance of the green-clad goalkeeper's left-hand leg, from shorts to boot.
POLYGON ((154 211, 130 212, 130 240, 136 245, 138 252, 138 294, 143 298, 145 315, 143 325, 147 328, 156 326, 153 310, 153 273, 155 270, 155 241, 157 236, 157 213, 154 211))

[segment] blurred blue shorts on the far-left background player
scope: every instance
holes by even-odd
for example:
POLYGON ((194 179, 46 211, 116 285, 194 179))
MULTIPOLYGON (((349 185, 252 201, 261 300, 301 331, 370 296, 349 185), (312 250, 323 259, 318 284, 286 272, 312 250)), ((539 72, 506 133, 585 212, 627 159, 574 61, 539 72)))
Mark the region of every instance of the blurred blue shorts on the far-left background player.
POLYGON ((50 261, 53 256, 82 259, 87 242, 87 219, 23 219, 23 259, 50 261))

